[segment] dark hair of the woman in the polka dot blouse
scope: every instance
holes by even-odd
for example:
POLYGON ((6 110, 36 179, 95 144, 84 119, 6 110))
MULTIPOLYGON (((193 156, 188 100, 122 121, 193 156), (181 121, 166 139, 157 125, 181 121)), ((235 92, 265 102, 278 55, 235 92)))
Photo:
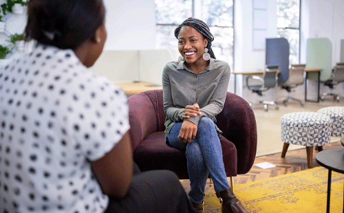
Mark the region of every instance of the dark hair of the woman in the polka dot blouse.
POLYGON ((102 0, 30 0, 25 36, 45 45, 76 49, 104 19, 102 0))

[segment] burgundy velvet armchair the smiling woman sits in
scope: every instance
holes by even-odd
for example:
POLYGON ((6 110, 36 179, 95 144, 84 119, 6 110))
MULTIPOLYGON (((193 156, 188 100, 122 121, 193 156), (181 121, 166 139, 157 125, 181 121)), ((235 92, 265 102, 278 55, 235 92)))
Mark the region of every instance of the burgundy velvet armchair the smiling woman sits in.
MULTIPOLYGON (((172 170, 180 179, 189 179, 182 150, 165 142, 162 90, 145 91, 128 98, 129 134, 133 159, 142 171, 172 170)), ((257 124, 246 100, 227 93, 224 109, 216 116, 227 177, 246 174, 255 161, 257 124)))

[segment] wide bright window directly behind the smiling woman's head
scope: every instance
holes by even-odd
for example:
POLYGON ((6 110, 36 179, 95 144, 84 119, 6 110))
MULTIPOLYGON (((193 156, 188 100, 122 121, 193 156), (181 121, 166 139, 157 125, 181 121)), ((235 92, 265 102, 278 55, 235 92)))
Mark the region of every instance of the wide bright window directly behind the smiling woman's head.
POLYGON ((193 16, 204 21, 215 37, 212 48, 216 58, 233 68, 233 1, 155 0, 156 47, 177 49, 174 30, 193 16))

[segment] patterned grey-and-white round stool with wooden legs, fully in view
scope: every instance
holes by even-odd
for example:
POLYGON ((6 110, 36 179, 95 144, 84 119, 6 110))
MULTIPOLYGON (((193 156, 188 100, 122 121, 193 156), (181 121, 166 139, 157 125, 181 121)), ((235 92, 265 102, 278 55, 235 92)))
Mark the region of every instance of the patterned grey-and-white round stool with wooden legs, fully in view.
POLYGON ((284 142, 281 157, 286 157, 289 144, 306 147, 308 168, 312 168, 313 146, 323 150, 330 143, 332 120, 322 113, 297 112, 281 117, 281 139, 284 142))

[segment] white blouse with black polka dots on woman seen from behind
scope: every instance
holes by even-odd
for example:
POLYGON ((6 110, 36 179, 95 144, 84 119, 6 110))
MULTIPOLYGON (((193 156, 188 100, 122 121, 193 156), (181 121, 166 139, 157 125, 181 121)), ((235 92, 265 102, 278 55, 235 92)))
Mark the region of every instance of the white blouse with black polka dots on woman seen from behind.
POLYGON ((129 130, 126 102, 70 49, 38 45, 1 68, 0 212, 104 212, 89 161, 129 130))

